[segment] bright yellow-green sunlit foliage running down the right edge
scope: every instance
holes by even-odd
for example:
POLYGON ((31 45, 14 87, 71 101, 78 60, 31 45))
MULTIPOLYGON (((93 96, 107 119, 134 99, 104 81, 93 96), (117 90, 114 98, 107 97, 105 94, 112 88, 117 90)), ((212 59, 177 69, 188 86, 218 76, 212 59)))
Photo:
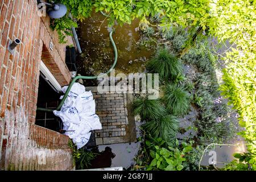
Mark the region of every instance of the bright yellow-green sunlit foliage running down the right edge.
POLYGON ((219 30, 213 34, 220 41, 229 40, 236 46, 221 56, 227 67, 223 69, 223 94, 240 115, 240 134, 247 142, 247 154, 242 154, 240 166, 256 170, 256 1, 218 1, 219 30), (228 19, 228 22, 226 21, 228 19), (222 27, 222 28, 220 28, 222 27), (245 164, 242 164, 245 162, 245 164))

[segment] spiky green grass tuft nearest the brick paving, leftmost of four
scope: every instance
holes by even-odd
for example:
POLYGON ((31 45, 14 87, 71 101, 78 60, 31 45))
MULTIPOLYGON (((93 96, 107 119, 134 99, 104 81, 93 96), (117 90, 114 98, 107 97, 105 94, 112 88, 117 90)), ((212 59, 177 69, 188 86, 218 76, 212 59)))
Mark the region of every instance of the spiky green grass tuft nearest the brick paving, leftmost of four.
POLYGON ((133 102, 133 112, 139 114, 143 120, 155 120, 163 116, 166 109, 159 100, 148 100, 147 97, 142 97, 133 102))

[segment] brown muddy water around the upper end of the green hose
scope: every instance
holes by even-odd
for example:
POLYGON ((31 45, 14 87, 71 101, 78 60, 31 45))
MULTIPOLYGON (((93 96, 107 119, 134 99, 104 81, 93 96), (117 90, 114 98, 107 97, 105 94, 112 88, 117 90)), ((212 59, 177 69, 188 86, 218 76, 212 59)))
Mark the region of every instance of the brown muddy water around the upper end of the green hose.
MULTIPOLYGON (((97 75, 106 72, 113 64, 114 53, 110 43, 108 20, 100 13, 94 13, 83 22, 79 22, 77 33, 80 39, 82 54, 78 56, 81 75, 97 75)), ((118 61, 115 72, 137 73, 145 70, 146 60, 154 53, 147 47, 138 46, 140 34, 139 20, 115 25, 113 39, 118 49, 118 61)))

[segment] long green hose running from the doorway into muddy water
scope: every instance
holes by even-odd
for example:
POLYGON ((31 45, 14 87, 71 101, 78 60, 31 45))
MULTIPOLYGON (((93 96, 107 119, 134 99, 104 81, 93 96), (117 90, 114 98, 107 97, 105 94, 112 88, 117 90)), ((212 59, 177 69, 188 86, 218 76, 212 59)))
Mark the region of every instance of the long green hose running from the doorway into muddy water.
MULTIPOLYGON (((111 41, 112 46, 114 48, 115 59, 114 59, 114 63, 112 64, 112 67, 105 73, 106 75, 108 75, 114 69, 115 64, 117 64, 118 53, 117 53, 117 47, 115 46, 115 42, 114 42, 114 40, 112 38, 112 34, 113 34, 113 31, 110 32, 109 38, 110 38, 110 41, 111 41)), ((53 110, 60 110, 60 108, 63 106, 66 98, 68 97, 69 91, 71 90, 71 88, 72 88, 73 84, 76 82, 76 80, 78 80, 78 79, 93 80, 93 79, 97 79, 97 78, 103 77, 105 74, 102 74, 100 76, 76 76, 75 78, 73 78, 73 80, 69 84, 68 89, 67 89, 67 91, 64 94, 64 97, 62 98, 59 106, 57 106, 56 109, 47 109, 47 108, 38 107, 36 110, 46 111, 46 112, 52 112, 53 110)))

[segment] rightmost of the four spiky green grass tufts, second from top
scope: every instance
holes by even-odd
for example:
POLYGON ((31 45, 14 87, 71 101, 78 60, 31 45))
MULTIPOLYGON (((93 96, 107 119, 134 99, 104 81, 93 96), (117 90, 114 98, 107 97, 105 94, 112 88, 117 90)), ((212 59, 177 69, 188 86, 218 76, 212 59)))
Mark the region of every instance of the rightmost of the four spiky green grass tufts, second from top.
POLYGON ((170 113, 175 115, 186 114, 190 108, 190 96, 184 86, 167 84, 164 88, 163 101, 170 113))

